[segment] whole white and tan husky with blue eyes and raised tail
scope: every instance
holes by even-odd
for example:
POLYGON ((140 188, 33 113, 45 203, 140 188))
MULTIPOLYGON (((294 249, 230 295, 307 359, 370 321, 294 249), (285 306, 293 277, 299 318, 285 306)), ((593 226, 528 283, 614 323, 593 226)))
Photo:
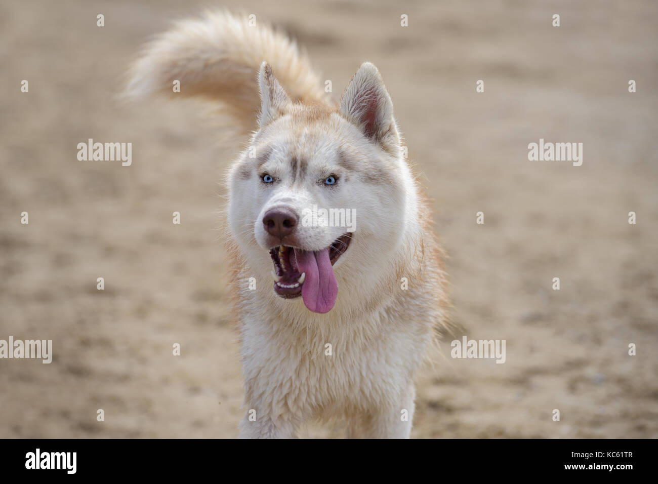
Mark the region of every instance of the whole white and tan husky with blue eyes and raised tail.
POLYGON ((250 136, 226 178, 240 437, 344 419, 348 437, 407 438, 445 325, 443 253, 377 68, 361 65, 340 103, 320 86, 287 36, 216 12, 148 44, 128 94, 214 100, 250 136), (306 217, 315 207, 355 223, 306 217))

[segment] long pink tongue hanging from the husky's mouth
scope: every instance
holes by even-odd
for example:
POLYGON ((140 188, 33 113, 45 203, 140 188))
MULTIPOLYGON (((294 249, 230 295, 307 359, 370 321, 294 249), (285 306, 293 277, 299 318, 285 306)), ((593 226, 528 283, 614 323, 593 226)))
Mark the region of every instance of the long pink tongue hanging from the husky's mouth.
POLYGON ((301 298, 314 313, 326 313, 336 304, 338 282, 329 260, 329 248, 312 252, 295 249, 299 273, 306 273, 301 285, 301 298))

